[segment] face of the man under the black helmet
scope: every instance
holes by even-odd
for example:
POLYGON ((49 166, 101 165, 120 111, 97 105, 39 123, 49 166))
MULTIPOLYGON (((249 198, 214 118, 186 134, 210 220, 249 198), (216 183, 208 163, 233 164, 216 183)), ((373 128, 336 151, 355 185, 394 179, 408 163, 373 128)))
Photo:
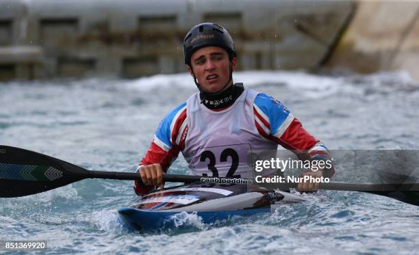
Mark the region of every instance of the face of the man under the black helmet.
MULTIPOLYGON (((190 57, 190 63, 194 70, 199 85, 205 92, 216 93, 223 89, 230 78, 229 54, 225 49, 218 46, 207 46, 195 51, 190 57)), ((236 70, 236 57, 231 61, 232 70, 236 70)), ((188 66, 190 75, 192 70, 188 66)), ((228 88, 229 85, 226 87, 228 88)))

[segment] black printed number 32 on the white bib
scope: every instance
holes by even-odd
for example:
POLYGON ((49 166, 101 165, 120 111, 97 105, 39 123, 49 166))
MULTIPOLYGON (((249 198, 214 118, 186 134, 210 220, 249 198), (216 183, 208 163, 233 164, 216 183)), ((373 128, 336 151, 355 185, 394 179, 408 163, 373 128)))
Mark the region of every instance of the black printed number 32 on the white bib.
MULTIPOLYGON (((220 161, 226 162, 228 157, 231 157, 231 166, 225 177, 236 177, 233 176, 234 172, 236 172, 238 168, 239 163, 239 157, 236 150, 233 150, 232 148, 223 150, 223 152, 221 152, 220 161)), ((215 167, 216 158, 214 153, 212 153, 210 150, 205 150, 202 152, 200 161, 205 162, 207 159, 210 159, 210 163, 208 163, 208 170, 212 172, 213 177, 218 177, 218 169, 215 167)), ((207 176, 207 174, 203 174, 203 176, 207 176)))

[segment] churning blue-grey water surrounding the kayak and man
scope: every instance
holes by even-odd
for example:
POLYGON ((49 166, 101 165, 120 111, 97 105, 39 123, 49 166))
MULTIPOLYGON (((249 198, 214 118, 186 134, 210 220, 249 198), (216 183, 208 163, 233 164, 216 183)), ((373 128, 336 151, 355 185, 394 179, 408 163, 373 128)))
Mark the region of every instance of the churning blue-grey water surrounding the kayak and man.
MULTIPOLYGON (((330 149, 418 149, 419 83, 403 73, 318 76, 238 72, 271 94, 330 149)), ((0 144, 42 152, 89 170, 133 172, 162 117, 196 92, 187 74, 133 81, 0 83, 0 144)), ((180 156, 170 173, 187 174, 180 156)), ((336 174, 338 176, 339 173, 336 174)), ((0 241, 47 240, 66 254, 415 254, 419 207, 348 191, 319 191, 272 214, 207 226, 130 232, 117 210, 136 201, 131 182, 82 180, 23 198, 0 198, 0 241)))

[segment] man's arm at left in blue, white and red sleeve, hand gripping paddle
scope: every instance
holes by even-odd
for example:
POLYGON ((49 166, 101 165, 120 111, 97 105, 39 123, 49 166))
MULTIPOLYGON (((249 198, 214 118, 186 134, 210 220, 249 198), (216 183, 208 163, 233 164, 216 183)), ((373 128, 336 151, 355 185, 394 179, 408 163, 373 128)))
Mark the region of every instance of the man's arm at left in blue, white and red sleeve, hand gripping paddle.
POLYGON ((187 131, 186 103, 183 103, 160 122, 153 142, 138 166, 137 171, 147 185, 141 186, 138 182, 134 182, 134 191, 138 195, 147 193, 154 186, 163 186, 162 175, 167 172, 170 164, 179 155, 179 151, 184 148, 187 131))

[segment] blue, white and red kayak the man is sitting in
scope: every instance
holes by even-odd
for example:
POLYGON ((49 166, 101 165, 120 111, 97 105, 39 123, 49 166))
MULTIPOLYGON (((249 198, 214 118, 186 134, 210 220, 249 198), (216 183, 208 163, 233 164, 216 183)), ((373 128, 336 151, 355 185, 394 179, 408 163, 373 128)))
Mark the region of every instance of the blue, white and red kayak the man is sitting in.
POLYGON ((151 191, 131 207, 118 210, 120 222, 133 230, 173 228, 185 213, 196 214, 204 224, 233 217, 269 213, 279 204, 305 201, 286 191, 268 191, 237 184, 189 184, 151 191))

